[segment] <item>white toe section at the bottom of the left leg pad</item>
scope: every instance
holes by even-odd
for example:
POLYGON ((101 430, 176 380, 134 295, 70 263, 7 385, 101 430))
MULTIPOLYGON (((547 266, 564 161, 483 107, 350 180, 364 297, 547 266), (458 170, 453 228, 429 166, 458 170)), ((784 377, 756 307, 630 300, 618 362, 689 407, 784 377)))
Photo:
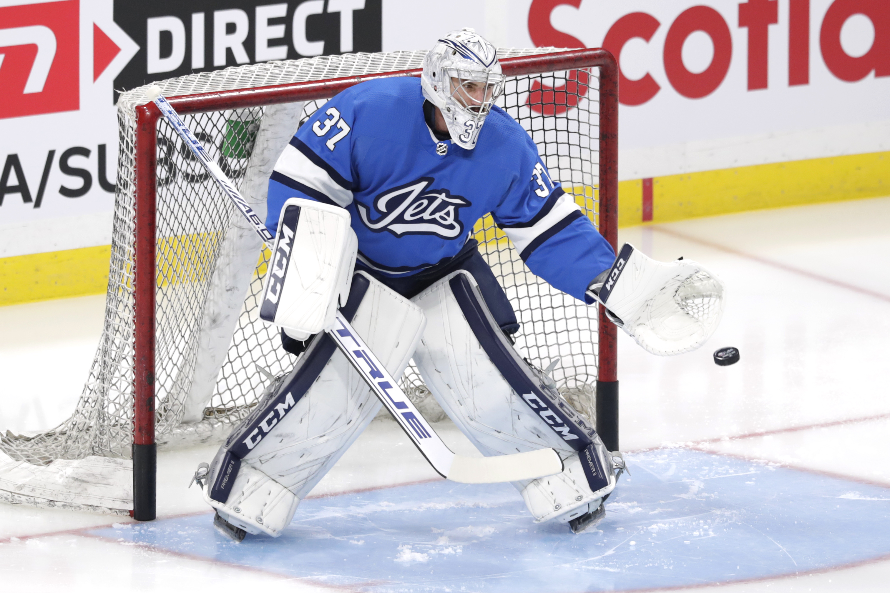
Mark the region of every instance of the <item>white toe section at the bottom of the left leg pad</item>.
POLYGON ((294 518, 300 503, 283 485, 247 464, 241 466, 229 500, 214 501, 203 492, 204 500, 226 521, 247 533, 278 537, 294 518))

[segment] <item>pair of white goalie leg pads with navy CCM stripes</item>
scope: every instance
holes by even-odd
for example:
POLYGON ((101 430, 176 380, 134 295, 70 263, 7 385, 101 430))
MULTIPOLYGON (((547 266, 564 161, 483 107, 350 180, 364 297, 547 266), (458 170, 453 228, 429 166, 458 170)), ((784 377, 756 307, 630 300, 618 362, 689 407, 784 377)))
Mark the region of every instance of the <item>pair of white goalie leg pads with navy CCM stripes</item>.
MULTIPOLYGON (((481 453, 547 446, 560 453, 561 474, 514 483, 536 521, 596 509, 615 486, 610 454, 515 352, 473 276, 457 270, 413 301, 359 272, 343 312, 394 376, 414 356, 433 396, 481 453)), ((277 537, 379 409, 333 341, 316 336, 221 447, 205 500, 231 525, 277 537)))

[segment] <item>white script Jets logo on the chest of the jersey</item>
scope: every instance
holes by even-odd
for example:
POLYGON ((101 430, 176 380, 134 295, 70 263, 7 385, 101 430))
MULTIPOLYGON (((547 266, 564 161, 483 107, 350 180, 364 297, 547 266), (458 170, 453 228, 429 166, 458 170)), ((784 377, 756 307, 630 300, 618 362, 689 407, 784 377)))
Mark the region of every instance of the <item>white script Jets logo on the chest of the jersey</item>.
POLYGON ((373 231, 386 230, 395 236, 461 236, 464 223, 458 211, 470 202, 462 196, 452 196, 448 189, 430 189, 432 184, 432 177, 421 177, 384 191, 374 198, 373 214, 365 204, 356 204, 361 221, 373 231))

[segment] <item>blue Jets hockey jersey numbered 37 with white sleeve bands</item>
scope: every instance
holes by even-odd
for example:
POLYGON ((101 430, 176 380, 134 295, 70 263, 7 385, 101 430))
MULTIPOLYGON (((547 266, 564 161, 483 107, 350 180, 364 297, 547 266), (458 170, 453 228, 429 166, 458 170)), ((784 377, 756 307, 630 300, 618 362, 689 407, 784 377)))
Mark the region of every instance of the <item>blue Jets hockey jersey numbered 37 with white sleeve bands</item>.
POLYGON ((401 277, 453 257, 490 212, 533 273, 589 302, 587 285, 615 254, 551 180, 529 134, 495 107, 465 150, 436 140, 423 104, 414 77, 368 81, 329 100, 275 164, 269 230, 289 197, 337 204, 352 215, 360 262, 401 277))

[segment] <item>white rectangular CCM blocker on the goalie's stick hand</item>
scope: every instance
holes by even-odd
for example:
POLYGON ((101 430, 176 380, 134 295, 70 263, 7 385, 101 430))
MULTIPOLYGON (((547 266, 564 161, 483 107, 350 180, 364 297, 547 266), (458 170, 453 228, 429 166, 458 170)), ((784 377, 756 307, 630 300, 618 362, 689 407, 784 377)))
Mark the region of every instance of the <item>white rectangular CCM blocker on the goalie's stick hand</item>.
POLYGON ((343 208, 288 199, 279 216, 260 317, 295 340, 333 325, 337 304, 345 305, 349 296, 358 245, 343 208))

